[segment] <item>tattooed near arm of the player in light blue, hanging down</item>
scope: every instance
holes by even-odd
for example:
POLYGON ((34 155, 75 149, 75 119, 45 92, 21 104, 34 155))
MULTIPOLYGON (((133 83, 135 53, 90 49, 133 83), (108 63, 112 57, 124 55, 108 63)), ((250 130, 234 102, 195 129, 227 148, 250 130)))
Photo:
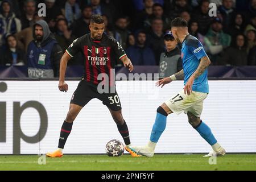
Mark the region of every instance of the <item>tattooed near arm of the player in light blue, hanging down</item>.
POLYGON ((205 69, 207 69, 207 67, 209 67, 210 65, 210 60, 207 56, 204 56, 201 58, 200 60, 200 64, 197 67, 196 71, 193 73, 193 75, 191 75, 191 77, 189 78, 187 84, 184 87, 184 93, 190 95, 192 93, 192 85, 194 80, 199 77, 200 75, 202 75, 205 71, 205 69))

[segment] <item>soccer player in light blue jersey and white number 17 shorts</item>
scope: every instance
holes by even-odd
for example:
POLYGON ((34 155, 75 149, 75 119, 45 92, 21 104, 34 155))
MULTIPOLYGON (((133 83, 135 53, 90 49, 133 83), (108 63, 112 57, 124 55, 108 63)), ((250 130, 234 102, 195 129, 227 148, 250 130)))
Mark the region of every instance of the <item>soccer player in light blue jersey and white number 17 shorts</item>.
POLYGON ((166 128, 167 115, 180 114, 184 111, 188 115, 188 122, 212 146, 213 151, 205 156, 223 156, 226 151, 215 139, 210 128, 201 120, 203 102, 209 93, 207 68, 210 64, 200 41, 189 35, 187 22, 182 18, 175 18, 171 23, 172 36, 178 43, 182 43, 181 58, 183 69, 156 82, 162 87, 176 79, 184 78, 184 90, 175 94, 157 109, 156 119, 152 128, 150 141, 146 146, 131 149, 144 156, 154 156, 156 143, 166 128))

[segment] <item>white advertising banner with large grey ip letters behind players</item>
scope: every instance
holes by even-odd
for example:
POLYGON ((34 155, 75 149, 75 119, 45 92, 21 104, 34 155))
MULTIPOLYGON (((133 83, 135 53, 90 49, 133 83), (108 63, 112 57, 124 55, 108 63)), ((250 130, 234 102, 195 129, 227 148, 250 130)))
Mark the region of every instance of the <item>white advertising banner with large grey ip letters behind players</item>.
MULTIPOLYGON (((79 81, 0 81, 0 154, 44 154, 56 149, 69 101, 79 81)), ((156 109, 183 89, 174 81, 162 89, 155 81, 117 81, 122 114, 133 145, 150 138, 156 109)), ((201 119, 226 152, 256 152, 256 81, 209 81, 210 93, 201 119)), ((65 154, 104 154, 118 133, 108 108, 94 99, 81 110, 64 148, 65 154)), ((171 114, 155 152, 209 152, 211 147, 188 123, 187 115, 171 114)))

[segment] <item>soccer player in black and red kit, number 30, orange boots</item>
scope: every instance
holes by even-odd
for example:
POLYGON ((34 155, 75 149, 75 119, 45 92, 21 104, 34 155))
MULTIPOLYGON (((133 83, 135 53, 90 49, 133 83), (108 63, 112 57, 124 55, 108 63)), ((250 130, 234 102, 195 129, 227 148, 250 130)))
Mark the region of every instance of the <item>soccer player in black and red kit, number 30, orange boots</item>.
POLYGON ((61 92, 68 90, 68 84, 65 83, 67 63, 78 52, 82 52, 85 57, 85 74, 71 98, 69 111, 60 131, 59 146, 57 150, 48 152, 46 155, 52 158, 63 156, 63 148, 77 114, 90 100, 98 98, 112 114, 118 131, 125 142, 126 151, 130 152, 132 156, 140 156, 129 148, 131 144, 129 130, 122 116, 122 107, 114 88, 115 80, 112 74, 115 57, 118 57, 130 72, 133 71, 133 64, 117 40, 104 34, 105 24, 101 15, 92 15, 89 28, 90 34, 74 40, 61 58, 59 78, 59 90, 61 92), (103 77, 103 79, 98 77, 103 77), (99 84, 102 85, 99 87, 99 84), (102 90, 99 92, 98 88, 103 88, 106 92, 102 93, 102 90))

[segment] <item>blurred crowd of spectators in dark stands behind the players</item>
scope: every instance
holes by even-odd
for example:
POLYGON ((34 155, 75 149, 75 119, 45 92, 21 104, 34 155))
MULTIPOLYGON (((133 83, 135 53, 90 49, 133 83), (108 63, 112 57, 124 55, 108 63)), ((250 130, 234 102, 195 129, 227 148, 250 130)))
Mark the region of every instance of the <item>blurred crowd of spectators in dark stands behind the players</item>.
MULTIPOLYGON (((64 52, 89 33, 90 16, 105 18, 105 34, 117 39, 134 65, 159 65, 179 44, 168 36, 171 20, 180 16, 189 33, 207 51, 212 65, 256 65, 256 0, 44 0, 0 1, 0 65, 26 65, 33 24, 44 19, 64 52), (38 16, 38 3, 46 3, 46 17, 38 16), (217 17, 209 16, 216 3, 217 17), (170 45, 168 45, 168 42, 170 45), (170 48, 168 48, 168 46, 170 48)), ((81 56, 81 55, 80 55, 81 56)), ((75 57, 69 65, 83 65, 75 57)), ((117 61, 117 65, 121 64, 117 61)), ((164 67, 165 65, 160 65, 164 67)), ((177 70, 181 64, 179 57, 177 70)))

